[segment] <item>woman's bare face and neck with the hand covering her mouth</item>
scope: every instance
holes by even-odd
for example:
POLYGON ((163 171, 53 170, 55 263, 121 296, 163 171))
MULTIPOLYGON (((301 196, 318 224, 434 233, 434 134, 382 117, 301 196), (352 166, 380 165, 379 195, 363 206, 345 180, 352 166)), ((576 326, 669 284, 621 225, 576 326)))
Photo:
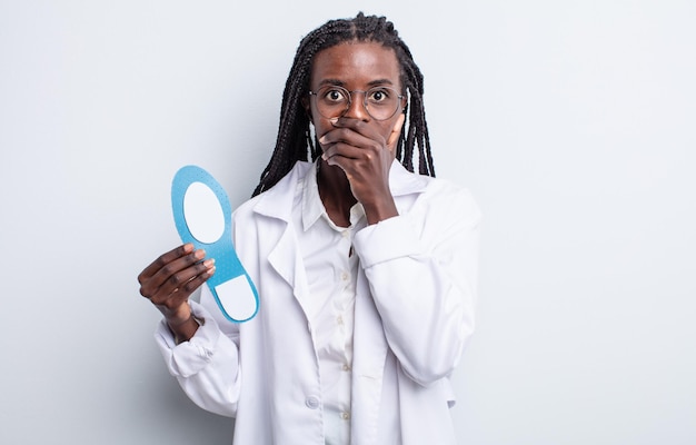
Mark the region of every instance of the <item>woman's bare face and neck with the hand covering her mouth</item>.
MULTIPOLYGON (((401 89, 400 67, 392 49, 375 42, 347 42, 327 48, 315 57, 310 88, 338 85, 349 91, 375 86, 401 89)), ((350 207, 359 201, 368 224, 398 215, 389 190, 389 169, 405 115, 374 120, 354 93, 350 108, 339 119, 310 112, 324 155, 319 169, 319 195, 329 218, 340 227, 350 225, 350 207)), ((406 103, 404 103, 405 106, 406 103)))

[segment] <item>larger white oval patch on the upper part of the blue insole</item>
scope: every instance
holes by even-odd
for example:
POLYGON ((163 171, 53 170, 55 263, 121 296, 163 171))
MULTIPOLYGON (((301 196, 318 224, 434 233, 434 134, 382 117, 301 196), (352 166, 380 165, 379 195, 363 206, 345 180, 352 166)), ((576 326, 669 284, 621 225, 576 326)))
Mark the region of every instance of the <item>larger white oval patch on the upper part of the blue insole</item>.
POLYGON ((202 182, 191 182, 183 195, 183 219, 193 238, 212 244, 225 233, 225 215, 217 195, 202 182))

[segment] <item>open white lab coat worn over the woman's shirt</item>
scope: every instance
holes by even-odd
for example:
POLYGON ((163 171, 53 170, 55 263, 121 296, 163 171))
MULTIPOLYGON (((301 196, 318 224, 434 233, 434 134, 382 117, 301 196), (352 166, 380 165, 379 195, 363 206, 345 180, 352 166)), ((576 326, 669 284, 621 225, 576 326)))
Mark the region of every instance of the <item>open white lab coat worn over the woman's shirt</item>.
MULTIPOLYGON (((203 291, 191 306, 206 322, 190 342, 175 346, 165 324, 156 335, 188 396, 236 417, 237 445, 324 445, 308 284, 290 218, 309 168, 298 162, 235 212, 235 246, 259 291, 258 315, 229 323, 203 291)), ((474 329, 480 214, 467 190, 398 162, 390 187, 399 216, 354 239, 351 444, 455 444, 449 375, 474 329)))

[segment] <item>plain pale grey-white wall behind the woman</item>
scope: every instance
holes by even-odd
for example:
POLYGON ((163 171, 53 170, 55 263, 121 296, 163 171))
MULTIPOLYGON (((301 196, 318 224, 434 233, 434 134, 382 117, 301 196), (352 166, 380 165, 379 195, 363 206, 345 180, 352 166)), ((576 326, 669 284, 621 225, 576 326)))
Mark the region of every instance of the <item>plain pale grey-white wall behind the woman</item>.
POLYGON ((696 443, 690 0, 0 1, 0 443, 230 443, 136 276, 178 243, 173 172, 246 199, 299 39, 358 10, 485 212, 460 442, 696 443))

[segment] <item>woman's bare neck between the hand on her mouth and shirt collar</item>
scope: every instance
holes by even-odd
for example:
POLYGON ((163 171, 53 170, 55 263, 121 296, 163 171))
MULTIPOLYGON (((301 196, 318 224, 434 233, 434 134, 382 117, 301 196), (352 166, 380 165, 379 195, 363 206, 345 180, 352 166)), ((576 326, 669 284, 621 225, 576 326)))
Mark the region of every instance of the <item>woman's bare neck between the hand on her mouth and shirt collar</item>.
POLYGON ((322 159, 317 166, 317 186, 326 212, 337 226, 350 226, 350 208, 358 200, 352 196, 346 174, 340 167, 329 166, 322 159))

